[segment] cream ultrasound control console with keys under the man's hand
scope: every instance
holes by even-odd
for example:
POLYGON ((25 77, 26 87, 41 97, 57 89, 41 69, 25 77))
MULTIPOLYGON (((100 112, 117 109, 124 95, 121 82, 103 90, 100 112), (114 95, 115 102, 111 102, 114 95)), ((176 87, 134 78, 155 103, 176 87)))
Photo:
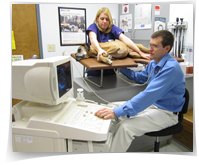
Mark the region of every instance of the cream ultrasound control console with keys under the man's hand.
POLYGON ((27 122, 27 128, 54 131, 57 137, 83 141, 104 141, 108 137, 111 119, 94 115, 106 106, 70 99, 58 111, 38 112, 27 122))

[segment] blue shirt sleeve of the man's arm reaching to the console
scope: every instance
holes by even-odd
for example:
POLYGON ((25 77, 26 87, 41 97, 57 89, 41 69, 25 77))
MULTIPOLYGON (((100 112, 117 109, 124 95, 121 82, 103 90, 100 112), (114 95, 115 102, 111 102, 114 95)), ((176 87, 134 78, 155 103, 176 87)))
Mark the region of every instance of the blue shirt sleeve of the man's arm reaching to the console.
POLYGON ((177 81, 177 76, 174 68, 167 68, 164 72, 160 72, 144 91, 134 96, 122 106, 113 109, 116 117, 135 116, 151 104, 157 102, 157 100, 160 100, 173 88, 175 81, 177 81))

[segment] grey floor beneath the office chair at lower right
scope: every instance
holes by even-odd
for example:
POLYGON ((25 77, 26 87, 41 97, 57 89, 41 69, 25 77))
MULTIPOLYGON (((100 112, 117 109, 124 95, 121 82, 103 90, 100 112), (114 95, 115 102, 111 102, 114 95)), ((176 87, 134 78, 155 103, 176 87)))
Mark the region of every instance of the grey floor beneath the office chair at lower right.
MULTIPOLYGON (((138 152, 153 152, 153 146, 147 147, 138 152)), ((159 152, 193 152, 193 151, 184 146, 183 144, 179 143, 178 141, 171 139, 170 144, 167 144, 166 142, 160 144, 159 152)))

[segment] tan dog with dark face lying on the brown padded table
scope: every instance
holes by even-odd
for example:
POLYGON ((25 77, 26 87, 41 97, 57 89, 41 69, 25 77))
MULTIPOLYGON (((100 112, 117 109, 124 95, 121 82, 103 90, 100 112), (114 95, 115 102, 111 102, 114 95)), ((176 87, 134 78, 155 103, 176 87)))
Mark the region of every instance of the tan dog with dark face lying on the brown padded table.
MULTIPOLYGON (((137 47, 144 53, 149 53, 149 49, 144 47, 142 44, 136 44, 137 47)), ((132 58, 142 58, 137 52, 132 51, 125 43, 122 41, 111 41, 111 42, 104 42, 99 43, 99 46, 104 49, 108 54, 103 54, 102 56, 99 56, 99 60, 111 65, 113 58, 115 59, 121 59, 125 58, 127 55, 129 55, 132 58)), ((77 53, 75 54, 75 59, 77 61, 80 61, 81 59, 89 58, 91 56, 97 56, 97 51, 90 45, 90 44, 84 44, 81 45, 77 49, 77 53)))

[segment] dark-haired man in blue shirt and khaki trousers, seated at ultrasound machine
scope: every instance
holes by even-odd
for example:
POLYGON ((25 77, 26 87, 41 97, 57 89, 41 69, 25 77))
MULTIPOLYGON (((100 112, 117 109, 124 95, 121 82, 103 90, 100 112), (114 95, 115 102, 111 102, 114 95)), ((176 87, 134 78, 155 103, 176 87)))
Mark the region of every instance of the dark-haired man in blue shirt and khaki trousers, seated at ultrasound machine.
POLYGON ((178 122, 178 112, 185 102, 185 77, 177 60, 169 55, 173 40, 172 33, 167 30, 152 34, 149 50, 153 60, 147 67, 141 72, 120 69, 137 83, 147 82, 146 89, 120 107, 105 108, 95 113, 104 119, 127 116, 117 125, 111 151, 125 152, 135 136, 178 122))

